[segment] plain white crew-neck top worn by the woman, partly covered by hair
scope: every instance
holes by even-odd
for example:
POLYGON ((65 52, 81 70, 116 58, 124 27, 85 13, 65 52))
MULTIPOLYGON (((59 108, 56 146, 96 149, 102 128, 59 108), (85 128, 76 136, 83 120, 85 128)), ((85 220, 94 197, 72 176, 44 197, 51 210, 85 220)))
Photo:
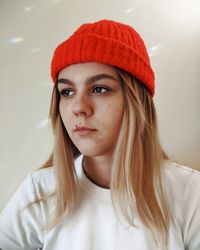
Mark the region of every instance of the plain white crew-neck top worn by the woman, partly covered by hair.
MULTIPOLYGON (((43 225, 52 217, 53 200, 37 203, 19 213, 27 203, 55 189, 53 167, 35 171, 27 176, 1 212, 1 249, 157 249, 138 218, 134 221, 138 227, 120 223, 112 207, 110 190, 95 185, 85 176, 82 159, 81 155, 75 160, 79 199, 72 215, 43 232, 43 225)), ((169 250, 200 250, 200 172, 165 162, 163 173, 173 213, 169 250)))

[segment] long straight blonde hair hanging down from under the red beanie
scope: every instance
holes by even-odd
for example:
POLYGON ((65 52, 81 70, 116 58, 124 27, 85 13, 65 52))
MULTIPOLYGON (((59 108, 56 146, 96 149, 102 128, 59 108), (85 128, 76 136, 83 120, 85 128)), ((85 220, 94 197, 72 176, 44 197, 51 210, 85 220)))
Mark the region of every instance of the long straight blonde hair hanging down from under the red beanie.
MULTIPOLYGON (((147 88, 129 73, 114 67, 121 80, 124 95, 124 116, 112 158, 110 189, 115 211, 121 211, 129 225, 135 226, 137 214, 154 239, 162 236, 167 246, 169 208, 162 186, 162 168, 168 159, 158 138, 156 111, 147 88), (119 210, 118 210, 119 208, 119 210)), ((80 155, 63 125, 59 113, 59 92, 55 84, 50 119, 55 142, 53 153, 41 168, 54 166, 56 190, 55 218, 52 227, 62 216, 69 215, 77 200, 77 182, 74 159, 80 155)), ((50 195, 50 196, 51 196, 50 195)), ((49 199, 41 197, 31 204, 49 199)), ((161 249, 161 248, 160 248, 161 249)))

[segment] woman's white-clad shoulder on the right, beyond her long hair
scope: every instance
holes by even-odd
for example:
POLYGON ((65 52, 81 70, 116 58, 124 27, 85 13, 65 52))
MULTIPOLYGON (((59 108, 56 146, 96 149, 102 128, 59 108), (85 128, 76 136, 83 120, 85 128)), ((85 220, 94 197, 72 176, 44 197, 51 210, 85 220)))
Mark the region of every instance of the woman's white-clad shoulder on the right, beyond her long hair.
POLYGON ((188 249, 200 249, 200 172, 171 161, 164 163, 163 170, 173 224, 181 230, 188 249))

